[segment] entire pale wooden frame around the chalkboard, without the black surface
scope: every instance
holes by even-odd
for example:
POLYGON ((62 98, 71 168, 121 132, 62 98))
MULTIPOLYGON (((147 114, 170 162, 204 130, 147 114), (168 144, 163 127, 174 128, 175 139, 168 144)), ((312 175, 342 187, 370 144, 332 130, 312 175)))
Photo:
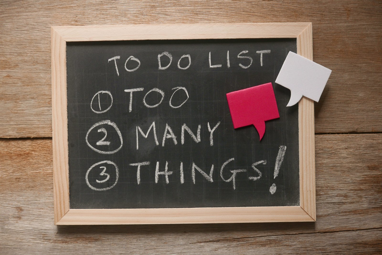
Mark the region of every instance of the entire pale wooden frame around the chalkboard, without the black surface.
POLYGON ((228 23, 52 27, 53 193, 57 225, 316 221, 314 102, 298 104, 300 206, 152 209, 70 209, 66 42, 296 38, 297 53, 310 60, 312 23, 228 23))

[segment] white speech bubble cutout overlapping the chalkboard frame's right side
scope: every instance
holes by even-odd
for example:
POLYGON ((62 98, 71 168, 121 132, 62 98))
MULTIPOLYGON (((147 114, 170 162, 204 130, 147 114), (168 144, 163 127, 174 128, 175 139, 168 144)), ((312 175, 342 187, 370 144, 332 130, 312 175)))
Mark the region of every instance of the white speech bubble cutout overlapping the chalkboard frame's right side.
POLYGON ((303 96, 318 102, 330 73, 332 70, 325 66, 289 52, 275 82, 290 89, 286 106, 295 105, 303 96))

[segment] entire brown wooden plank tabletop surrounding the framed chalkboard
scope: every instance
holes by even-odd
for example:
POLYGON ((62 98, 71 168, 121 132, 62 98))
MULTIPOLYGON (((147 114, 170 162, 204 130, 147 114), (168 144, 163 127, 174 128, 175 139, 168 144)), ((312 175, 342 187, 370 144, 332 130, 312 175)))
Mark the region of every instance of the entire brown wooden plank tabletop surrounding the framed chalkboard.
POLYGON ((1 254, 381 254, 382 3, 0 1, 1 254), (55 226, 50 27, 312 22, 315 223, 55 226))

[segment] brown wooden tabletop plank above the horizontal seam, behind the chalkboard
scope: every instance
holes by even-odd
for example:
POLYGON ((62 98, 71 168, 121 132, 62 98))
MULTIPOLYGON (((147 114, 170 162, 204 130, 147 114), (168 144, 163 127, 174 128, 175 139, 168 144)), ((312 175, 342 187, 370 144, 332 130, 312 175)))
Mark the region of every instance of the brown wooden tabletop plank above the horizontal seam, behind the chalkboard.
POLYGON ((332 69, 316 133, 382 131, 380 1, 1 1, 0 136, 52 136, 50 27, 312 22, 314 61, 332 69))

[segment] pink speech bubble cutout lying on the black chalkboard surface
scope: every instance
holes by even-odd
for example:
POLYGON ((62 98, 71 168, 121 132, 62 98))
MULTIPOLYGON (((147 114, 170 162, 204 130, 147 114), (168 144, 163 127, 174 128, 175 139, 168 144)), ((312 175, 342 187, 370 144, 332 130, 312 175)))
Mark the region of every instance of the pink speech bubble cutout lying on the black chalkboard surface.
POLYGON ((233 128, 255 126, 260 140, 265 133, 265 121, 280 118, 272 83, 227 93, 233 128))

